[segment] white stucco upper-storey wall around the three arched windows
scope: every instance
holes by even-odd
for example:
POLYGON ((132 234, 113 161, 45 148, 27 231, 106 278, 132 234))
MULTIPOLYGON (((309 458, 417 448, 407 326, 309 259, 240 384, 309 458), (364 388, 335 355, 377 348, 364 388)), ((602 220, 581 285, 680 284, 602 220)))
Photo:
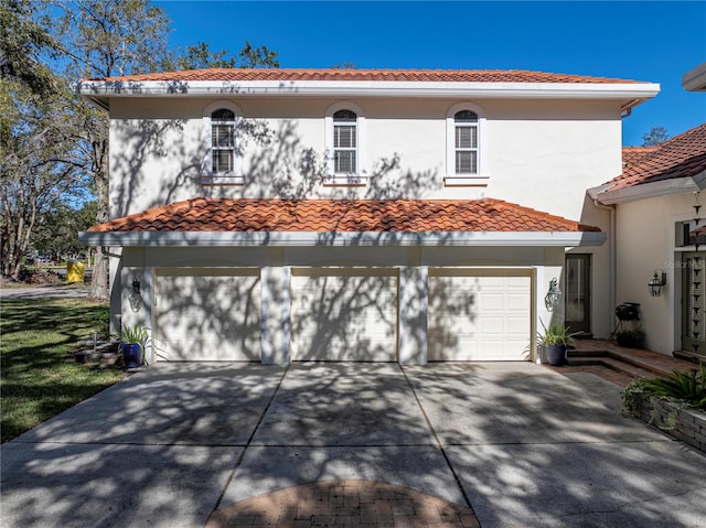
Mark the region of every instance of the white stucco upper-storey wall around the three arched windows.
MULTIPOLYGON (((249 137, 245 183, 201 184, 203 109, 210 99, 111 101, 111 215, 136 213, 194 196, 478 198, 505 200, 579 219, 585 190, 621 171, 621 122, 610 101, 473 100, 488 117, 480 138, 482 185, 445 186, 446 116, 461 100, 349 99, 366 118, 361 144, 372 175, 364 187, 324 186, 303 180, 301 153, 322 161, 323 116, 330 98, 233 99, 249 122, 265 125, 272 141, 249 137), (398 166, 379 171, 384 160, 398 166), (560 198, 560 200, 557 200, 560 198)), ((261 129, 260 129, 261 131, 261 129)))

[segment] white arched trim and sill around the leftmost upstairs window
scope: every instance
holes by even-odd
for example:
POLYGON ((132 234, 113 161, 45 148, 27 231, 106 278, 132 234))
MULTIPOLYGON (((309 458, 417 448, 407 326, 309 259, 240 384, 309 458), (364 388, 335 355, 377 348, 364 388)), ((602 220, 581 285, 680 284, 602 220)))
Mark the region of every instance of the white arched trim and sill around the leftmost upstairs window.
POLYGON ((216 100, 203 109, 202 185, 243 185, 245 183, 242 142, 238 133, 242 119, 240 108, 228 100, 216 100), (212 116, 218 110, 226 110, 223 112, 226 117, 220 121, 218 129, 214 129, 212 116), (216 151, 221 152, 221 161, 214 160, 216 151))

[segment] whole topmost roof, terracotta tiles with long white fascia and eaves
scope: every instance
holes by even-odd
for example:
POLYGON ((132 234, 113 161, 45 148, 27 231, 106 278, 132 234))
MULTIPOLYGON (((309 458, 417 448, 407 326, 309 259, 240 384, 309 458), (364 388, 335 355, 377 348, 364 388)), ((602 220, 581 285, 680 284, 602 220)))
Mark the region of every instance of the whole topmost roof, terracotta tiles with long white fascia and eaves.
POLYGON ((211 68, 82 79, 76 90, 104 108, 113 97, 523 97, 610 99, 628 114, 660 85, 522 69, 211 68))

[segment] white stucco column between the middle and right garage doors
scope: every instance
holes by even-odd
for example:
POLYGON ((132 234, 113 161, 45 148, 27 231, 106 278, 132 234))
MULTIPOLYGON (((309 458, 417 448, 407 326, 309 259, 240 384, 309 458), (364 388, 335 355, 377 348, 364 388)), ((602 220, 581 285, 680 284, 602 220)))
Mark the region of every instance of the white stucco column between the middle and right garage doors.
POLYGON ((399 363, 426 365, 428 351, 429 268, 399 268, 399 363))

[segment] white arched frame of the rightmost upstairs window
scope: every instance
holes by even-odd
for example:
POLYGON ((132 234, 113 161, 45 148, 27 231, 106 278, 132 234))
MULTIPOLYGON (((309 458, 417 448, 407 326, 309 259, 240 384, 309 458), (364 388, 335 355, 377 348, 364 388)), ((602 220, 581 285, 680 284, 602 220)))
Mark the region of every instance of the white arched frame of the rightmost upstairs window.
MULTIPOLYGON (((470 127, 469 127, 470 128, 470 127)), ((447 186, 453 185, 485 185, 490 179, 488 171, 488 120, 485 112, 481 107, 473 103, 459 103, 453 105, 446 115, 446 177, 443 183, 447 186), (477 152, 475 173, 457 173, 456 172, 456 154, 459 149, 456 148, 456 115, 459 111, 470 110, 478 116, 475 125, 477 132, 477 152)), ((461 149, 467 151, 468 149, 461 149)))

